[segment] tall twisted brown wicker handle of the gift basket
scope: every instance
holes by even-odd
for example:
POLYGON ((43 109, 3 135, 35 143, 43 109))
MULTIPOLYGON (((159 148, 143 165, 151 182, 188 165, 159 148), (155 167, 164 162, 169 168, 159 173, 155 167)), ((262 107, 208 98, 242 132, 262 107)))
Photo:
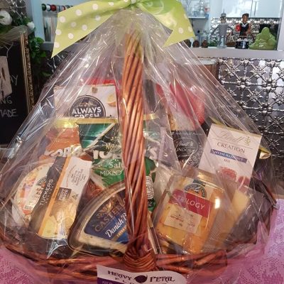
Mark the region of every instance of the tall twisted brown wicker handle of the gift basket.
POLYGON ((139 33, 126 35, 122 75, 121 132, 124 160, 125 207, 129 244, 124 263, 132 271, 156 269, 148 239, 148 204, 143 136, 143 50, 139 33))

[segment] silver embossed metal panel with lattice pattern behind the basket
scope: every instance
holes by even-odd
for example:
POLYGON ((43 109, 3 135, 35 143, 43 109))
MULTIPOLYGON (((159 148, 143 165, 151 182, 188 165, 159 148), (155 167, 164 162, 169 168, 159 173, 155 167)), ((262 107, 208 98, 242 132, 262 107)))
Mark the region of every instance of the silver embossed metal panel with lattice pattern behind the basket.
POLYGON ((219 82, 258 126, 284 180, 284 61, 219 58, 219 82))

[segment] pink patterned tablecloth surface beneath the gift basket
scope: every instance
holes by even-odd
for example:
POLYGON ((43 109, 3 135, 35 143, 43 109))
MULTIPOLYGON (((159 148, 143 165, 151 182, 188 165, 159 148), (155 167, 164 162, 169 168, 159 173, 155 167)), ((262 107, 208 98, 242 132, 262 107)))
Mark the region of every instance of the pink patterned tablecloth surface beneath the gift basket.
MULTIPOLYGON (((284 200, 279 200, 280 210, 275 229, 268 241, 266 251, 258 261, 246 265, 239 273, 239 280, 234 284, 283 284, 284 283, 284 200)), ((5 249, 0 250, 0 283, 1 284, 40 284, 48 283, 24 273, 29 271, 29 263, 16 263, 5 249), (23 268, 26 266, 26 269, 23 268)), ((222 280, 219 284, 224 283, 222 280)), ((54 283, 51 281, 51 283, 54 283)), ((70 284, 79 282, 72 281, 70 284)), ((214 282, 215 283, 215 282, 214 282)), ((233 284, 231 281, 226 284, 233 284)))

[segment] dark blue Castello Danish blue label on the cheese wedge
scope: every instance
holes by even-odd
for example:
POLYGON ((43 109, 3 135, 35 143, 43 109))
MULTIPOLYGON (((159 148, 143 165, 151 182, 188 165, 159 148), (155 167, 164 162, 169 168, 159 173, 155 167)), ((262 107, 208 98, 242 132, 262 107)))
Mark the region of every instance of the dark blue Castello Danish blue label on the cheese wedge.
POLYGON ((109 241, 122 244, 128 242, 126 231, 126 212, 124 209, 124 191, 118 192, 102 204, 92 215, 84 232, 109 241))

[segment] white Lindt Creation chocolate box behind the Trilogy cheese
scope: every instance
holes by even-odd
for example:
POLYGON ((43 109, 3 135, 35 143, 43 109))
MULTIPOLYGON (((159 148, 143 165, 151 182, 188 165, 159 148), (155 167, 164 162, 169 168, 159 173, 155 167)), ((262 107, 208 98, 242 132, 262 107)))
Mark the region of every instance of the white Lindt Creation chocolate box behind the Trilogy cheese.
POLYGON ((232 180, 251 179, 261 136, 212 124, 198 168, 224 173, 232 180))

